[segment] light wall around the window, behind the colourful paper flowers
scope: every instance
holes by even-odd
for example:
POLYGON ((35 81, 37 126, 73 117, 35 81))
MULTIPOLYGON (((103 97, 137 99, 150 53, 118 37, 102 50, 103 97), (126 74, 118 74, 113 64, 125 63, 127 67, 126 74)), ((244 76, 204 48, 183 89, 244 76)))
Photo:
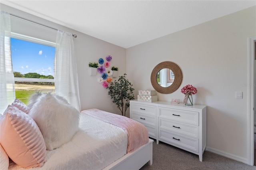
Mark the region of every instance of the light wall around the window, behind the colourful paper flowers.
MULTIPOLYGON (((89 75, 88 63, 98 62, 98 59, 105 58, 107 55, 112 55, 112 61, 110 61, 110 64, 119 68, 118 76, 123 75, 126 71, 126 49, 104 42, 97 38, 93 38, 86 34, 82 34, 81 32, 77 32, 64 26, 49 22, 42 18, 32 16, 28 13, 3 4, 1 4, 1 10, 32 21, 39 22, 41 24, 45 24, 46 26, 76 34, 77 38, 74 38, 73 40, 76 49, 75 55, 77 61, 82 110, 97 108, 104 111, 121 114, 121 112, 116 108, 116 105, 112 103, 110 95, 108 95, 108 90, 102 87, 100 83, 98 83, 98 77, 100 77, 100 74, 97 73, 96 76, 89 75)), ((48 40, 51 42, 56 41, 55 30, 44 28, 42 26, 38 26, 36 24, 32 24, 30 22, 26 22, 24 20, 13 17, 11 17, 11 24, 12 32, 48 40)), ((118 78, 114 78, 114 80, 115 79, 118 78)))

